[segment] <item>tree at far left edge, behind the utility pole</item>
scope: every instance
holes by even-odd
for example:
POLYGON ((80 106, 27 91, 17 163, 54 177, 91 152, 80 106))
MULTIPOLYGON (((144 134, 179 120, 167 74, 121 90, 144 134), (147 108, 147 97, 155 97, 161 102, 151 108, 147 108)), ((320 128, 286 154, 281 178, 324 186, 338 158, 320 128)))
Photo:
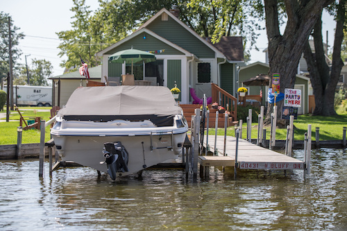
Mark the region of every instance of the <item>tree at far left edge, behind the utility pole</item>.
MULTIPOLYGON (((5 12, 0 12, 0 81, 1 78, 6 78, 9 72, 9 53, 8 53, 8 18, 10 15, 5 12)), ((23 33, 19 33, 17 26, 13 25, 13 20, 10 19, 11 24, 11 42, 12 42, 12 62, 14 69, 18 68, 17 60, 22 54, 18 49, 19 40, 24 38, 23 33)))

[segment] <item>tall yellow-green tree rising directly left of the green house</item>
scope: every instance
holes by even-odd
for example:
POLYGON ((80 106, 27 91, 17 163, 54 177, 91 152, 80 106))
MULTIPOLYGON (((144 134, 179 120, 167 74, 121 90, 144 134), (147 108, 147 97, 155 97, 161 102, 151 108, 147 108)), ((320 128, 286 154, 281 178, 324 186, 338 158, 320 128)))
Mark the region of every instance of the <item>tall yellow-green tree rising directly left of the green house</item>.
POLYGON ((61 31, 57 33, 62 43, 59 44, 59 55, 67 55, 60 66, 66 68, 74 68, 81 66, 81 58, 89 67, 100 65, 100 60, 94 55, 100 51, 99 44, 95 44, 91 33, 91 10, 89 6, 85 6, 85 0, 73 0, 74 7, 71 8, 75 12, 75 20, 71 22, 72 29, 69 31, 61 31))

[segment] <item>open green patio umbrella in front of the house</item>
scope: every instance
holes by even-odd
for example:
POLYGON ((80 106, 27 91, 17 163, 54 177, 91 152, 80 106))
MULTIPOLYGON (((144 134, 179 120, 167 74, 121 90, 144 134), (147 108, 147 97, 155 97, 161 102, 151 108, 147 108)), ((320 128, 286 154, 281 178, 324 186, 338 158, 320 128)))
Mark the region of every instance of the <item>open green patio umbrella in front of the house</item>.
POLYGON ((155 55, 146 51, 140 51, 137 49, 127 49, 123 51, 117 51, 116 53, 108 57, 110 62, 119 63, 131 63, 131 74, 133 74, 133 64, 137 62, 154 62, 155 55))

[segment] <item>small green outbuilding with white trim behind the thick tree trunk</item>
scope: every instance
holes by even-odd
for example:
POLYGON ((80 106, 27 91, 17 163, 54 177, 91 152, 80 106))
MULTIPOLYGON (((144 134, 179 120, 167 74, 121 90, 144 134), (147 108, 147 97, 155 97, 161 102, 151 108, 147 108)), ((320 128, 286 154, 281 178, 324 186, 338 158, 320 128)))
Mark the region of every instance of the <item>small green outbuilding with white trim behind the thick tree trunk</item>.
MULTIPOLYGON (((258 74, 268 74, 269 68, 269 65, 264 62, 254 62, 250 65, 247 65, 246 67, 241 67, 239 71, 239 86, 242 86, 243 81, 255 77, 258 74)), ((244 87, 248 89, 247 94, 260 95, 260 86, 244 85, 244 87)), ((301 95, 303 97, 301 108, 298 108, 298 114, 307 114, 309 112, 308 94, 310 89, 310 78, 301 75, 296 75, 294 88, 301 89, 301 95)), ((262 99, 263 105, 267 104, 265 102, 267 102, 268 90, 269 86, 262 87, 262 93, 264 96, 262 99)))

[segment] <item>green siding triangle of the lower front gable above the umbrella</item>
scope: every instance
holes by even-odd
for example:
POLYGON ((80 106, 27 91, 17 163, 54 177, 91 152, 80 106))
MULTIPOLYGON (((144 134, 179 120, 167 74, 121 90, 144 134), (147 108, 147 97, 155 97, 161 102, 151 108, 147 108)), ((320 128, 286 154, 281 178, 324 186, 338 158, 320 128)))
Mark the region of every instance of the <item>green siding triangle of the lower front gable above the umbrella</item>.
POLYGON ((146 33, 141 33, 133 37, 131 40, 124 42, 123 44, 120 44, 115 49, 108 51, 107 54, 112 54, 112 53, 116 53, 117 51, 131 49, 132 46, 133 46, 133 49, 138 49, 142 51, 164 50, 164 52, 155 53, 155 55, 183 55, 182 52, 174 49, 172 46, 169 46, 168 44, 146 33), (144 39, 144 35, 146 35, 146 39, 144 39))

